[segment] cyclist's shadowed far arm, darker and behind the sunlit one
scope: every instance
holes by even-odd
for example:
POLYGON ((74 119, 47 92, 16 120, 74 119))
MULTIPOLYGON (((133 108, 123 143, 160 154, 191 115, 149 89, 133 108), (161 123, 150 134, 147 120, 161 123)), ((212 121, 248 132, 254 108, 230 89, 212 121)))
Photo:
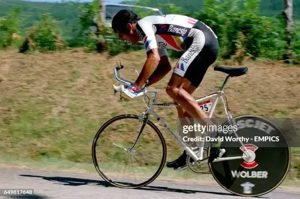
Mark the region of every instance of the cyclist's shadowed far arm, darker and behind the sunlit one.
POLYGON ((160 62, 155 69, 155 71, 152 73, 152 75, 149 78, 149 83, 147 84, 147 87, 149 87, 152 84, 155 84, 162 78, 164 78, 168 72, 172 69, 171 64, 169 62, 168 56, 162 56, 160 57, 160 62))

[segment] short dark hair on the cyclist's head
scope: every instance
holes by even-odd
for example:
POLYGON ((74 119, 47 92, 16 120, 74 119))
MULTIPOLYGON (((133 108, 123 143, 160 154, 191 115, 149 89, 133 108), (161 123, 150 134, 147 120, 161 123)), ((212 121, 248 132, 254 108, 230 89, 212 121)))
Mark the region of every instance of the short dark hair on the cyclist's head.
POLYGON ((112 29, 114 32, 122 31, 122 32, 128 32, 127 23, 136 23, 140 20, 140 18, 128 9, 120 10, 113 18, 112 20, 112 29))

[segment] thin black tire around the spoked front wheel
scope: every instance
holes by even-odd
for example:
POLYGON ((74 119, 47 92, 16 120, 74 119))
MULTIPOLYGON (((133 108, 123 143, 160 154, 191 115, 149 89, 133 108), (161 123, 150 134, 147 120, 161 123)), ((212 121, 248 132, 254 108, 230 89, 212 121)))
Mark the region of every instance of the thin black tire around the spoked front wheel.
POLYGON ((160 162, 160 165, 157 169, 157 171, 155 172, 155 174, 150 177, 148 180, 146 180, 145 182, 142 182, 142 183, 139 183, 139 184, 134 184, 134 185, 124 185, 124 184, 120 184, 118 182, 113 182, 112 180, 110 180, 102 171, 101 171, 101 168, 99 166, 99 163, 97 161, 97 157, 96 157, 96 146, 97 146, 97 141, 100 137, 100 134, 110 125, 112 124, 113 122, 115 121, 118 121, 118 120, 122 120, 122 119, 139 119, 139 117, 137 115, 134 115, 134 114, 125 114, 125 115, 118 115, 118 116, 115 116, 113 118, 111 118, 110 120, 106 121, 101 127, 100 129, 98 130, 98 132, 96 133, 95 137, 94 137, 94 140, 93 140, 93 145, 92 145, 92 157, 93 157, 93 162, 94 162, 94 166, 97 170, 97 172, 99 173, 99 175, 105 180, 107 181, 108 183, 114 185, 114 186, 117 186, 117 187, 120 187, 120 188, 127 188, 127 189, 134 189, 134 188, 140 188, 140 187, 143 187, 143 186, 146 186, 148 184, 150 184, 153 180, 155 180, 159 174, 162 172, 163 170, 163 167, 165 165, 165 162, 166 162, 166 156, 167 156, 167 146, 166 146, 166 142, 165 142, 165 139, 162 135, 162 133, 159 131, 159 129, 150 121, 148 120, 147 124, 150 125, 150 127, 155 131, 155 133, 157 133, 159 139, 160 139, 160 142, 162 144, 162 151, 163 151, 163 155, 162 155, 162 159, 161 159, 161 162, 160 162))

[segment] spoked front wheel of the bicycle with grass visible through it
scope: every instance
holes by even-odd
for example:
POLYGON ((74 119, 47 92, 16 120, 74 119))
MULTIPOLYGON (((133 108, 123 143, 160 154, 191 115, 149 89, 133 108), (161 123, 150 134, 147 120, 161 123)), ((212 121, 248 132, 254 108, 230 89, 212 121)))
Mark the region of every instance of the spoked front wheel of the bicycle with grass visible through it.
POLYGON ((163 135, 149 120, 137 115, 119 115, 97 132, 92 146, 93 162, 100 176, 121 188, 138 188, 161 173, 167 149, 163 135), (135 147, 138 134, 143 128, 135 147))

